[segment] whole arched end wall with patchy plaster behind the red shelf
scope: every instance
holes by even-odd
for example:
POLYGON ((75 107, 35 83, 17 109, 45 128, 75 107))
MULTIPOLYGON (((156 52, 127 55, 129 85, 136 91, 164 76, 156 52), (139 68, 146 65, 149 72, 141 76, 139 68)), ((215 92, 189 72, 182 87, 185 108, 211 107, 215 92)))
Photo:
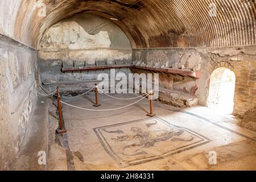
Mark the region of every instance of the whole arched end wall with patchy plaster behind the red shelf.
POLYGON ((93 72, 64 75, 61 65, 83 67, 96 65, 96 61, 115 64, 131 61, 131 55, 129 39, 113 22, 88 13, 76 14, 44 33, 39 51, 41 79, 47 83, 92 80, 93 72), (103 28, 94 31, 94 27, 103 28))

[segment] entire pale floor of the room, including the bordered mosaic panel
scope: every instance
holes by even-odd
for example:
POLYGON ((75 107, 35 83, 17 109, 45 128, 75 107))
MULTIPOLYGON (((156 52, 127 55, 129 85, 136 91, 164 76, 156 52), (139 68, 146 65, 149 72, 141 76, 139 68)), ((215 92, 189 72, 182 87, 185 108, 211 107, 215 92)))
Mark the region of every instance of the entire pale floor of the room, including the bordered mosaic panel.
MULTIPOLYGON (((94 109, 93 99, 69 103, 94 109)), ((130 102, 100 95, 97 109, 130 102)), ((67 133, 55 135, 57 119, 49 116, 48 169, 256 170, 256 133, 238 126, 236 119, 207 107, 180 109, 156 101, 156 117, 147 117, 148 110, 148 100, 110 112, 63 106, 67 133), (217 154, 217 165, 209 164, 211 151, 217 154)))

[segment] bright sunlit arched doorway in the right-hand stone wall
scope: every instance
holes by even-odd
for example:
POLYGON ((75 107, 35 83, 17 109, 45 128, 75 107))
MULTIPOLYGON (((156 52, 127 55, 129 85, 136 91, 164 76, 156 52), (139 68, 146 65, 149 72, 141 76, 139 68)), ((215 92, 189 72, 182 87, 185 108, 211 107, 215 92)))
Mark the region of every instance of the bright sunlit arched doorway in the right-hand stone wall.
POLYGON ((210 75, 207 106, 222 114, 231 114, 234 108, 236 75, 228 68, 217 68, 210 75))

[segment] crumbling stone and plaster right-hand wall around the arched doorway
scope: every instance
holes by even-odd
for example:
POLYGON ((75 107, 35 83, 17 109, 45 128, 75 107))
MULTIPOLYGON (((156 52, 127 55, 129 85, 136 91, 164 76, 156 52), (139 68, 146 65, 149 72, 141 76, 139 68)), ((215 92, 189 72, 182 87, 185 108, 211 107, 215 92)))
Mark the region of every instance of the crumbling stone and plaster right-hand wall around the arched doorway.
MULTIPOLYGON (((201 105, 207 105, 212 72, 217 68, 228 68, 236 75, 233 113, 242 116, 247 110, 256 106, 256 46, 134 49, 133 64, 138 63, 154 67, 200 71, 201 76, 197 80, 174 76, 173 90, 195 95, 201 105)), ((167 85, 163 83, 164 80, 160 82, 162 85, 167 85)))

